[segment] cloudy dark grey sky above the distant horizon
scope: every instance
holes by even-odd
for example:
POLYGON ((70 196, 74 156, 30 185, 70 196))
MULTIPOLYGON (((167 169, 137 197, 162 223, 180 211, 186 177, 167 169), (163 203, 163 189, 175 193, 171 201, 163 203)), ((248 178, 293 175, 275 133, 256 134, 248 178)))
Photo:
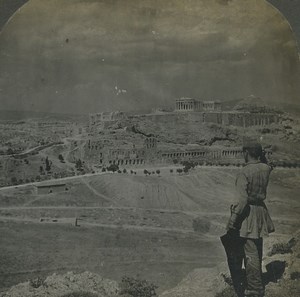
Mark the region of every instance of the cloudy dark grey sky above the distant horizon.
MULTIPOLYGON (((1 109, 139 110, 182 96, 299 102, 295 35, 264 0, 30 0, 3 26, 22 2, 3 14, 0 0, 1 109)), ((298 36, 298 0, 287 2, 294 9, 280 9, 298 36)))

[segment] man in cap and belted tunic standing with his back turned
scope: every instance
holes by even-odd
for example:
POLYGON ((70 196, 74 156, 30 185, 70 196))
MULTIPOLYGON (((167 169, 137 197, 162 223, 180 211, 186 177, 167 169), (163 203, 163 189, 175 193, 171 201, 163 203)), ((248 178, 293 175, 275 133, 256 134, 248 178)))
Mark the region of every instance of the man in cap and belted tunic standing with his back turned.
MULTIPOLYGON (((246 165, 238 174, 235 183, 237 201, 231 206, 226 234, 227 241, 229 238, 231 244, 226 252, 238 296, 263 297, 263 237, 274 232, 273 222, 264 203, 272 168, 263 161, 263 150, 259 143, 244 145, 243 154, 246 165), (246 270, 244 284, 243 260, 246 270)), ((224 238, 222 242, 224 244, 224 238)))

